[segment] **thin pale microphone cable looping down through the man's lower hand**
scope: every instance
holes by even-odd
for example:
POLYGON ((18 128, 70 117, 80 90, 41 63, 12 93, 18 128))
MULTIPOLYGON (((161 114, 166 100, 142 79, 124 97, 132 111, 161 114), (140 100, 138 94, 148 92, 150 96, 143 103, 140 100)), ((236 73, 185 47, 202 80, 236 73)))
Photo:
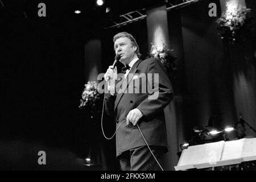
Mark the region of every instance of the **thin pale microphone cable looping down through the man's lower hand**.
MULTIPOLYGON (((104 129, 103 129, 103 113, 104 113, 104 106, 105 106, 105 97, 106 97, 106 88, 107 88, 107 85, 108 85, 108 81, 106 82, 106 86, 105 86, 105 88, 104 88, 105 91, 104 91, 104 100, 103 100, 102 113, 101 113, 101 130, 102 130, 102 133, 103 133, 104 137, 105 137, 106 139, 110 140, 110 139, 112 139, 112 138, 115 136, 115 134, 117 133, 117 130, 118 130, 119 127, 122 125, 122 123, 126 121, 126 119, 124 119, 124 120, 118 125, 118 127, 117 127, 117 129, 115 130, 115 133, 112 135, 112 137, 110 137, 110 138, 106 137, 106 135, 105 135, 105 133, 104 133, 104 129)), ((148 149, 150 150, 152 156, 155 158, 155 161, 158 163, 158 166, 162 169, 162 171, 164 171, 164 169, 162 168, 162 166, 159 164, 158 160, 156 159, 155 155, 153 154, 152 150, 150 149, 150 146, 148 146, 147 141, 146 141, 146 139, 144 138, 144 135, 142 134, 141 129, 139 128, 139 125, 136 124, 136 126, 138 127, 139 132, 141 133, 142 138, 143 138, 144 142, 146 143, 148 149)))

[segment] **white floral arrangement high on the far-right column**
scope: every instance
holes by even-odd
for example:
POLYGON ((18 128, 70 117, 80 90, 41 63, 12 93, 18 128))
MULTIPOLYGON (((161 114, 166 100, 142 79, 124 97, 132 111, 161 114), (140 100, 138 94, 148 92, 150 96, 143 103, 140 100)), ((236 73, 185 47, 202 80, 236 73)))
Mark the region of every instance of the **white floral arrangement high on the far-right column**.
POLYGON ((238 4, 226 3, 226 11, 217 19, 218 30, 221 32, 221 39, 227 39, 234 44, 241 38, 241 31, 246 27, 251 19, 248 16, 251 9, 238 4))

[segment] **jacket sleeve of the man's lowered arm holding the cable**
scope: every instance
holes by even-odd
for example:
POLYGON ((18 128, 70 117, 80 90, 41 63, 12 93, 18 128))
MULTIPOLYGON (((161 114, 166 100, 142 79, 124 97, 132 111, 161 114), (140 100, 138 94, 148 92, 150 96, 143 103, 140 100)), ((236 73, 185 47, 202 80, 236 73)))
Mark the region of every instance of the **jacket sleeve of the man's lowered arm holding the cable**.
POLYGON ((154 82, 151 85, 155 85, 155 87, 152 86, 152 93, 138 105, 137 109, 139 109, 146 118, 150 119, 171 102, 174 97, 174 92, 163 64, 159 59, 152 59, 150 61, 147 73, 152 73, 152 77, 154 77, 156 73, 158 77, 152 79, 154 82))

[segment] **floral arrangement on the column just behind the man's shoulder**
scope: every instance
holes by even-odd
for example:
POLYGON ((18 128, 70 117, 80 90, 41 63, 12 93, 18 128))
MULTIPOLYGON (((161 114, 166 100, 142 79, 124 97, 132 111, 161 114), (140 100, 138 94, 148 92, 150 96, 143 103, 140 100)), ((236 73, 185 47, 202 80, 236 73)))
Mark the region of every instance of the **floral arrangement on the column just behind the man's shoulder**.
POLYGON ((176 69, 174 64, 176 57, 172 55, 172 51, 174 50, 169 49, 164 43, 162 44, 162 46, 155 46, 154 44, 152 44, 150 49, 150 56, 158 58, 163 63, 164 68, 166 68, 168 72, 170 71, 170 69, 176 69))

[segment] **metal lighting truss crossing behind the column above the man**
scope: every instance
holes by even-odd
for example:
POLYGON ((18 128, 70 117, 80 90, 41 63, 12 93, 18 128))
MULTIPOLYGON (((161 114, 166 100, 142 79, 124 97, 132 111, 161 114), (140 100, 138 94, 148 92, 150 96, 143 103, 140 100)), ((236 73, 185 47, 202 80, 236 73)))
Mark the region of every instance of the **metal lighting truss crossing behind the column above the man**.
MULTIPOLYGON (((203 0, 176 0, 176 1, 167 1, 166 3, 166 11, 170 11, 173 9, 178 9, 184 6, 188 6, 191 3, 195 3, 198 1, 203 1, 203 0)), ((105 29, 108 28, 113 28, 113 27, 121 27, 124 26, 128 23, 133 23, 138 20, 146 18, 146 9, 141 9, 141 10, 136 10, 136 11, 131 11, 126 14, 119 15, 119 17, 115 20, 112 20, 110 23, 109 27, 106 27, 105 29)))

